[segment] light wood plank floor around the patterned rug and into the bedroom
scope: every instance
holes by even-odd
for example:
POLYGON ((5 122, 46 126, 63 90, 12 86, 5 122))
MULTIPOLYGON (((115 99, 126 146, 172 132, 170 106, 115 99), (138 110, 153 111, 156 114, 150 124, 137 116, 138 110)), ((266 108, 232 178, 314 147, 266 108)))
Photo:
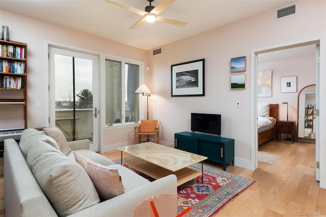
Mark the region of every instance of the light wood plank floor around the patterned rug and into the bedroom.
MULTIPOLYGON (((271 141, 259 151, 281 155, 275 165, 260 164, 255 171, 228 165, 227 172, 256 183, 227 205, 218 216, 293 216, 294 210, 322 211, 326 215, 326 190, 315 180, 315 144, 271 141)), ((111 160, 120 151, 103 153, 111 160)), ((126 154, 123 157, 127 157, 126 154)), ((205 165, 223 170, 222 165, 205 165)), ((3 176, 0 176, 0 217, 5 216, 3 176)), ((313 215, 306 215, 313 216, 313 215)))

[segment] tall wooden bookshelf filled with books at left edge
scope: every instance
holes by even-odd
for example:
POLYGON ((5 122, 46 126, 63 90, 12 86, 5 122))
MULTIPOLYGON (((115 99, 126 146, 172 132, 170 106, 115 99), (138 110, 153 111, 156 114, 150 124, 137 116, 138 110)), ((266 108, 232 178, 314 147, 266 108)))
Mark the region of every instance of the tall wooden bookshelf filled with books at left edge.
MULTIPOLYGON (((0 109, 14 110, 8 106, 23 106, 24 128, 27 128, 26 48, 26 43, 0 40, 0 109)), ((0 130, 6 128, 2 126, 0 130)))

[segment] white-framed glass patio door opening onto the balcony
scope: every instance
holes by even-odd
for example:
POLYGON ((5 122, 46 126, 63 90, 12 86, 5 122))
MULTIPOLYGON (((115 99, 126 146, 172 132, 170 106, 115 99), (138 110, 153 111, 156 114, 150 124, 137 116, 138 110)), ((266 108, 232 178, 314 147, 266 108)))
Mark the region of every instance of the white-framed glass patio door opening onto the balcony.
POLYGON ((57 47, 49 51, 49 126, 67 141, 90 140, 98 151, 98 57, 57 47))

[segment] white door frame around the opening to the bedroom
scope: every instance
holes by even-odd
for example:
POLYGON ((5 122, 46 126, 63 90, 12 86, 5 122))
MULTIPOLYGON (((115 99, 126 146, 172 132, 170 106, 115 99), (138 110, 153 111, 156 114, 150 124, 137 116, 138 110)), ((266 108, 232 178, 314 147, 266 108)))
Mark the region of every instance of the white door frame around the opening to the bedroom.
MULTIPOLYGON (((310 44, 320 44, 320 59, 323 59, 325 56, 325 38, 314 38, 311 40, 301 40, 296 41, 292 43, 285 43, 281 45, 275 45, 275 46, 268 46, 263 47, 259 49, 252 49, 251 50, 251 117, 257 117, 257 72, 258 72, 258 54, 260 53, 266 53, 270 51, 276 51, 276 50, 282 50, 292 47, 300 47, 304 45, 310 45, 310 44)), ((316 72, 316 80, 325 80, 325 63, 320 62, 320 65, 318 63, 318 68, 320 68, 320 73, 318 74, 316 72)), ((317 84, 317 83, 316 83, 317 84)), ((325 88, 322 87, 323 85, 318 85, 316 88, 316 93, 319 98, 320 104, 325 103, 325 88)), ((319 111, 319 118, 320 120, 324 120, 325 111, 323 107, 317 107, 319 111)), ((325 123, 324 122, 318 122, 317 124, 317 130, 324 129, 325 123)), ((256 118, 251 118, 251 164, 253 169, 258 168, 258 144, 257 144, 257 120, 256 118)), ((320 135, 317 131, 317 138, 316 138, 316 160, 320 161, 320 170, 316 171, 316 174, 318 173, 320 180, 325 180, 325 160, 323 158, 320 158, 319 156, 323 156, 325 154, 325 137, 324 135, 320 135), (319 151, 317 152, 317 146, 319 145, 319 151), (318 157, 317 157, 318 156, 318 157), (319 159, 318 159, 319 158, 319 159)), ((326 183, 324 181, 320 182, 321 188, 326 188, 326 183)))

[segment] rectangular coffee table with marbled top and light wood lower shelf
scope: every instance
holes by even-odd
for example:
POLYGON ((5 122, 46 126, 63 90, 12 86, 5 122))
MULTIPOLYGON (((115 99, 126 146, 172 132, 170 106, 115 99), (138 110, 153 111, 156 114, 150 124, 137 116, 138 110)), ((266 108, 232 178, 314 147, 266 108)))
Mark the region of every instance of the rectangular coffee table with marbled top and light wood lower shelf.
POLYGON ((125 146, 118 149, 121 151, 121 165, 123 152, 136 156, 123 161, 123 163, 154 179, 175 174, 178 186, 200 175, 202 175, 203 180, 203 160, 207 159, 205 156, 152 142, 125 146), (187 168, 197 162, 202 163, 201 172, 187 168))

